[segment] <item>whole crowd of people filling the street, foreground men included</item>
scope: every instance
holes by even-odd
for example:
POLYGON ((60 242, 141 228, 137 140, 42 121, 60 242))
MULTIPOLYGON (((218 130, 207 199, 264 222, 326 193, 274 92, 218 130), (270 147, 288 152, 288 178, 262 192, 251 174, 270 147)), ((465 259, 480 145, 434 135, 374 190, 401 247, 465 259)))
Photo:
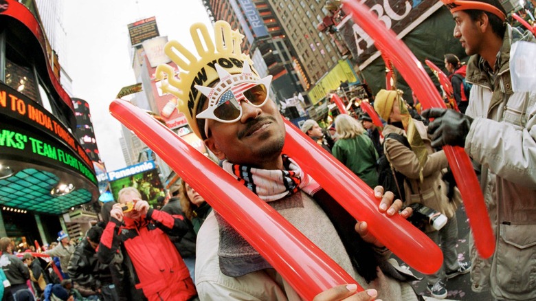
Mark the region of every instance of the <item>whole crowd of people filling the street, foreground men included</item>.
MULTIPOLYGON (((534 43, 535 37, 505 23, 498 0, 442 1, 454 16, 454 36, 471 56, 463 65, 454 54, 445 55, 458 110, 419 115, 401 92, 381 90, 372 100, 381 126, 361 111, 337 115, 326 129, 315 120, 300 129, 374 189, 381 214, 407 219, 427 208, 444 217, 440 225, 418 224, 444 256, 441 268, 423 280, 430 296, 446 298, 445 281, 470 271, 474 291, 490 291, 497 300, 536 300, 536 91, 513 91, 509 71, 511 45, 534 43), (472 243, 470 261, 457 256, 462 199, 448 177, 442 150, 447 145, 464 148, 478 171, 489 210, 481 218, 490 219, 496 235, 491 258, 481 258, 472 243), (399 199, 378 185, 382 157, 403 176, 396 183, 399 199)), ((196 24, 192 32, 204 26, 196 24)), ((228 23, 214 26, 216 40, 236 38, 228 23)), ((240 47, 200 39, 194 39, 197 49, 205 43, 209 50, 199 50, 199 61, 174 82, 190 96, 179 104, 190 128, 238 185, 267 202, 364 288, 357 292, 357 285, 340 283, 315 300, 423 300, 411 285, 418 278, 368 231, 374 225, 355 221, 282 153, 286 132, 269 98, 271 76, 260 78, 240 47), (203 78, 195 78, 201 69, 203 78)), ((57 278, 33 253, 14 254, 12 241, 0 238, 2 300, 301 300, 210 208, 202 191, 181 180, 170 194, 151 208, 138 189, 123 188, 78 244, 58 233, 58 244, 43 252, 58 258, 57 278)))

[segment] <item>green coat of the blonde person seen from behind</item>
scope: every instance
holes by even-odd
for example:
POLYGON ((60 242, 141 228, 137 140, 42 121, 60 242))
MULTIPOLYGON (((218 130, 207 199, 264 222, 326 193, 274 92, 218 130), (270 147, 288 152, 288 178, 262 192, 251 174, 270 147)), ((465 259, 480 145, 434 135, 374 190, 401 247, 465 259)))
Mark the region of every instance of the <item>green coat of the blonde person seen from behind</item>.
POLYGON ((331 153, 368 186, 371 188, 378 186, 376 170, 378 153, 366 133, 353 138, 339 138, 331 149, 331 153))

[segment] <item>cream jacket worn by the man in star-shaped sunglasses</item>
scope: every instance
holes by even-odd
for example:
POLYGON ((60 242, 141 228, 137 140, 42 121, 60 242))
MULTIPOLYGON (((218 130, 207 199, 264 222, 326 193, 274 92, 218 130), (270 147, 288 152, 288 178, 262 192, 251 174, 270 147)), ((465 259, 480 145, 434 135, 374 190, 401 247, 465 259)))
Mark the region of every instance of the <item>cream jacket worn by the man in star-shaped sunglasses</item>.
MULTIPOLYGON (((285 217, 287 218, 287 217, 285 217)), ((325 226, 325 225, 324 225, 325 226)), ((313 232, 324 236, 327 232, 326 227, 315 224, 313 232), (318 227, 322 228, 318 232, 318 227)), ((333 231, 335 231, 333 229, 333 231)), ((302 231, 303 232, 303 231, 302 231)), ((335 234, 336 235, 336 234, 335 234)), ((322 240, 320 249, 324 249, 326 254, 331 256, 327 245, 336 245, 335 238, 322 240)), ((219 265, 218 245, 220 241, 219 225, 211 212, 199 230, 197 236, 197 258, 195 262, 195 285, 201 300, 263 300, 263 301, 301 301, 302 298, 298 293, 285 281, 275 269, 261 269, 245 274, 240 277, 225 276, 219 265)), ((319 245, 320 241, 314 243, 319 245)), ((333 251, 333 250, 331 250, 333 251)), ((332 256, 333 258, 333 256, 332 256)), ((349 258, 339 258, 337 261, 346 271, 353 275, 353 267, 349 262, 349 258), (346 265, 343 263, 346 261, 346 265)), ((395 269, 404 274, 408 274, 409 270, 398 267, 396 260, 389 260, 395 269)), ((399 282, 393 278, 385 276, 381 270, 378 270, 378 278, 370 283, 366 283, 361 276, 355 274, 355 280, 364 288, 375 288, 379 292, 379 296, 383 296, 382 300, 397 300, 397 301, 416 301, 417 297, 411 285, 408 282, 399 282), (387 292, 390 292, 387 293, 387 292), (389 298, 396 293, 396 298, 389 298)))

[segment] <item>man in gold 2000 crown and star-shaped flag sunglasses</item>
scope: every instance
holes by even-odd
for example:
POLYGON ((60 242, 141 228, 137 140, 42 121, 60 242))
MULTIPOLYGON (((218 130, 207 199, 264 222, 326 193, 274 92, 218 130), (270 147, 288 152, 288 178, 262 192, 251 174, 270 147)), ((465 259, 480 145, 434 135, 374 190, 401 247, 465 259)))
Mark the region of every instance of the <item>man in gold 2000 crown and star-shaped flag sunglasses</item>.
MULTIPOLYGON (((412 287, 401 281, 411 277, 407 270, 397 270, 386 260, 388 250, 372 244, 377 241, 368 234, 366 223, 356 226, 355 219, 314 179, 282 155, 284 122, 269 96, 271 76, 259 76, 249 56, 241 53, 243 36, 224 21, 214 24, 215 41, 206 38, 205 25, 194 24, 190 32, 201 58, 170 41, 166 54, 179 65, 180 79, 172 76, 167 65, 159 66, 157 76, 162 71, 168 76, 163 89, 182 100, 179 109, 192 131, 222 160, 224 170, 267 201, 367 289, 354 295, 355 285, 341 284, 317 300, 350 296, 351 300, 418 300, 412 287)), ((401 201, 393 202, 391 193, 382 198, 382 192, 377 188, 381 212, 398 214, 401 201)), ((402 213, 409 214, 410 210, 402 213)), ((300 300, 217 212, 209 214, 197 237, 195 271, 201 300, 300 300)))

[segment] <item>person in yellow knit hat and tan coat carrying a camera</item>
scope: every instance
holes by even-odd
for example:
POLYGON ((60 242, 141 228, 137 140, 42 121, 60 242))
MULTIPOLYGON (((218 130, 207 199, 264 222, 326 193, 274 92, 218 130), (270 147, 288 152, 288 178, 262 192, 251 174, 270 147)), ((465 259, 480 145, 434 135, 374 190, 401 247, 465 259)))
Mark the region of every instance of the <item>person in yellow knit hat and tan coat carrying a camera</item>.
MULTIPOLYGON (((405 176, 405 181, 399 183, 405 191, 405 205, 419 203, 444 214, 448 219, 440 230, 431 223, 426 223, 423 227, 427 236, 440 245, 444 256, 443 267, 436 274, 425 276, 427 289, 432 297, 444 299, 447 297, 444 279, 467 274, 471 267, 469 261, 459 262, 456 252, 456 209, 461 199, 459 192, 452 199, 447 197, 447 185, 442 179, 442 170, 448 167, 447 157, 443 150, 434 152, 425 125, 411 118, 398 91, 379 91, 374 109, 381 118, 388 121, 388 125, 383 128, 384 153, 392 167, 405 176), (393 135, 405 137, 410 147, 393 135)), ((421 206, 411 207, 415 212, 421 212, 418 210, 421 206)))

